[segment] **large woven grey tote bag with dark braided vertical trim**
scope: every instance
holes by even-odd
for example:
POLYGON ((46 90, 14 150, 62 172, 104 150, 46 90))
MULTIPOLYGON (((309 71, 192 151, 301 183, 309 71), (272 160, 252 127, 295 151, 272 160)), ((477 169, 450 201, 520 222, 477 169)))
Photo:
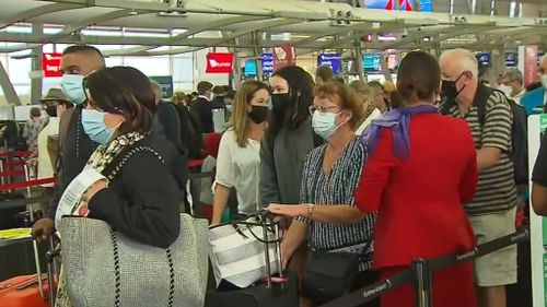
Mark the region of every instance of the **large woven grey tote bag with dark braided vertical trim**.
POLYGON ((206 220, 183 213, 178 238, 168 248, 159 248, 140 244, 104 221, 63 216, 59 231, 71 305, 203 306, 207 228, 206 220))

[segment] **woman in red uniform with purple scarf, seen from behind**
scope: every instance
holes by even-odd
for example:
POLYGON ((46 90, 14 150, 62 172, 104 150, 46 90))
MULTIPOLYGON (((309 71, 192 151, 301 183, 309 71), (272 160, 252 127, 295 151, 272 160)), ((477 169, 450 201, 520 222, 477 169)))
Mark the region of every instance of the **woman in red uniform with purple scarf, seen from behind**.
MULTIPOLYGON (((401 61, 397 91, 405 108, 373 121, 369 161, 356 191, 365 213, 377 211, 374 269, 382 279, 409 268, 412 259, 466 252, 475 236, 464 212, 477 187, 476 153, 467 123, 433 107, 440 69, 426 52, 401 61)), ((382 307, 414 307, 410 284, 387 292, 382 307)), ((433 273, 434 306, 475 307, 470 262, 433 273)))

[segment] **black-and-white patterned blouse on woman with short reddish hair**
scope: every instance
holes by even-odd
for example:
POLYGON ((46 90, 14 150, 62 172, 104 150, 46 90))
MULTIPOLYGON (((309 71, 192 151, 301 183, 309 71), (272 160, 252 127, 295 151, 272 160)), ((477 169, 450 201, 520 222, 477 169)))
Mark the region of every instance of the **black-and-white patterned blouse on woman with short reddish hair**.
MULTIPOLYGON (((303 170, 301 203, 319 205, 356 205, 353 192, 366 160, 366 151, 358 137, 346 146, 328 174, 323 172, 326 144, 313 150, 303 170)), ((309 248, 359 253, 359 271, 372 268, 372 232, 375 214, 354 224, 329 224, 299 217, 309 225, 309 248)))

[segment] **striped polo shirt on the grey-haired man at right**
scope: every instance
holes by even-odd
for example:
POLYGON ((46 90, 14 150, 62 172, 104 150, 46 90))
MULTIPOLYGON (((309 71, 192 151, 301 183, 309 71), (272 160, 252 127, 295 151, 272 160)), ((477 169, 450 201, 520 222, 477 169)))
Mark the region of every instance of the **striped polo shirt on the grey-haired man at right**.
POLYGON ((499 92, 493 92, 486 103, 484 125, 480 125, 478 108, 472 106, 465 115, 457 105, 450 109, 453 117, 467 121, 475 141, 475 149, 494 147, 501 150, 501 157, 492 167, 479 174, 477 193, 465 204, 469 215, 505 212, 516 205, 514 168, 510 158, 513 113, 509 102, 499 92))

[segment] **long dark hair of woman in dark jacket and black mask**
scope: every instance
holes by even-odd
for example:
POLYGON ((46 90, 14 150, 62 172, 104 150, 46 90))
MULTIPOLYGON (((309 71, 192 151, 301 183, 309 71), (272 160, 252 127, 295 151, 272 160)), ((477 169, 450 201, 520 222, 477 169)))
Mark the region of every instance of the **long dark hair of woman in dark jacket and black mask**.
POLYGON ((312 75, 296 66, 281 68, 272 74, 275 75, 287 81, 291 99, 284 115, 270 117, 267 133, 269 138, 275 138, 283 127, 296 129, 307 120, 315 86, 312 75))

